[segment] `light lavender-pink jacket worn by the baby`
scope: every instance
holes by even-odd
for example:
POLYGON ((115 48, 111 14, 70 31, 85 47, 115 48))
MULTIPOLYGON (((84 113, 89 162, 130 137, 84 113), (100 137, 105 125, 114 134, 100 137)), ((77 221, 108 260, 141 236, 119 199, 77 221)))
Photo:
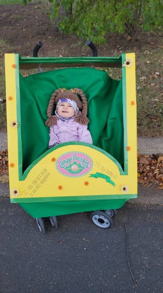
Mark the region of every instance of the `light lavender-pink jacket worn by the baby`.
POLYGON ((81 141, 93 143, 91 133, 87 128, 87 125, 81 125, 70 119, 63 121, 61 119, 57 120, 57 125, 50 127, 50 141, 49 148, 52 146, 68 142, 68 141, 81 141))

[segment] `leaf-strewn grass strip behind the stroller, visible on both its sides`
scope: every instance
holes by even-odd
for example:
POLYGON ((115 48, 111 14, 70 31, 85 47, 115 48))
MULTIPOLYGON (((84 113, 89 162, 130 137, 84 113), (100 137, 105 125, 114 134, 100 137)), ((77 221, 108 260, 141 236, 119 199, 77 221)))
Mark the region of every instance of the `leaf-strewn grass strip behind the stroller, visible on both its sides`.
MULTIPOLYGON (((2 40, 1 46, 8 47, 8 43, 2 40)), ((163 131, 162 125, 162 77, 161 77, 161 53, 155 50, 149 54, 137 54, 136 57, 136 88, 137 88, 137 123, 139 136, 160 136, 163 131), (157 73, 157 74, 155 74, 157 73), (159 74, 158 74, 159 73, 159 74)), ((5 100, 5 70, 4 60, 0 60, 1 81, 0 96, 5 100)), ((47 71, 47 69, 45 69, 47 71)), ((45 71, 44 70, 44 71, 45 71)), ((51 69, 50 69, 51 70, 51 69)), ((105 69, 114 79, 120 79, 121 69, 105 69)), ((21 74, 33 74, 38 70, 22 70, 21 74)), ((5 104, 1 103, 0 123, 1 129, 6 128, 6 109, 5 104), (5 111, 5 113, 4 113, 5 111)))

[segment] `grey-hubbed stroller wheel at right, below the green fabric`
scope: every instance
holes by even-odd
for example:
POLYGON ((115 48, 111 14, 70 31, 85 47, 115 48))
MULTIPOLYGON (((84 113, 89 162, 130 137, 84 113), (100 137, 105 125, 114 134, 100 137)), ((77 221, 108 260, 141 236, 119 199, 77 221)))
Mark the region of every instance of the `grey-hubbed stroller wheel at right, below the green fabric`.
POLYGON ((110 228, 112 226, 112 218, 102 211, 95 211, 91 214, 92 221, 100 228, 110 228))

